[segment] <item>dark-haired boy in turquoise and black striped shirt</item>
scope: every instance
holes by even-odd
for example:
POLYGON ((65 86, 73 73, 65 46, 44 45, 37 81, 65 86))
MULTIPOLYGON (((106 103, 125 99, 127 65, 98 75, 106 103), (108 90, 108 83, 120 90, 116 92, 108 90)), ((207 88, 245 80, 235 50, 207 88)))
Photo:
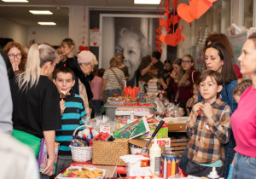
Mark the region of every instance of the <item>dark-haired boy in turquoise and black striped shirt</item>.
POLYGON ((60 96, 61 130, 55 131, 55 141, 60 143, 55 172, 55 175, 57 175, 73 162, 69 144, 73 139, 73 131, 83 124, 81 117, 86 112, 82 98, 71 91, 75 80, 74 73, 69 67, 61 66, 57 68, 53 74, 53 82, 59 93, 64 94, 64 96, 60 96))

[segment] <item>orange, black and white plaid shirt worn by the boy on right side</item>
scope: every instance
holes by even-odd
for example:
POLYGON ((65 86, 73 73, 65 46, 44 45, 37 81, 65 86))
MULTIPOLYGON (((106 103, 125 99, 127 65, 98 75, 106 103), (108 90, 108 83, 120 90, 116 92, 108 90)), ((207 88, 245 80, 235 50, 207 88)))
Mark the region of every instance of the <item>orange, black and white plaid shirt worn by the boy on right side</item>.
POLYGON ((187 132, 191 137, 188 158, 195 163, 211 164, 218 159, 224 162, 223 144, 230 140, 231 109, 219 99, 211 106, 212 118, 207 118, 204 113, 196 118, 192 109, 187 121, 187 132))

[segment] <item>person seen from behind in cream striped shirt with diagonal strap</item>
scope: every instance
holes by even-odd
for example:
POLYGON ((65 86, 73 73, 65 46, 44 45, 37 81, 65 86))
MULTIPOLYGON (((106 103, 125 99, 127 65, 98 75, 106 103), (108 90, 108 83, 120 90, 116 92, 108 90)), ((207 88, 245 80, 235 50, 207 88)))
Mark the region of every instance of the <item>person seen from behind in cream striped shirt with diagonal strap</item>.
POLYGON ((119 65, 119 59, 113 57, 110 60, 110 68, 103 74, 102 90, 100 99, 104 104, 108 101, 108 97, 113 94, 121 95, 124 89, 125 75, 117 66, 119 65))

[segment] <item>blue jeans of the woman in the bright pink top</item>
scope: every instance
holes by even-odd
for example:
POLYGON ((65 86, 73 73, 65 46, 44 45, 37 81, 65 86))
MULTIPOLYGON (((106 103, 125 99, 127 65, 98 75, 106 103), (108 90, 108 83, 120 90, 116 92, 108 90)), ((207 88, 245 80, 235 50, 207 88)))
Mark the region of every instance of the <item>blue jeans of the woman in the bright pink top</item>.
POLYGON ((232 179, 254 179, 256 176, 256 158, 236 153, 232 179))

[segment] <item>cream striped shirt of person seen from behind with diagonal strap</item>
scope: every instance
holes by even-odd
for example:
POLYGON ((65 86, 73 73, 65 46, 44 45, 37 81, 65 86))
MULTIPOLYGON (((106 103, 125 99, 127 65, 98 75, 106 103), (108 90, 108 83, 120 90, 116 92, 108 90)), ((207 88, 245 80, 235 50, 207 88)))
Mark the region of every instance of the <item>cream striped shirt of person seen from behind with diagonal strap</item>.
POLYGON ((106 88, 104 90, 113 90, 113 89, 122 90, 119 82, 121 84, 125 83, 125 74, 124 74, 124 72, 121 71, 117 67, 112 67, 111 69, 106 70, 103 74, 102 78, 107 80, 106 88), (113 72, 115 72, 119 81, 117 80, 117 78, 115 77, 115 75, 113 74, 111 69, 113 69, 113 72))

